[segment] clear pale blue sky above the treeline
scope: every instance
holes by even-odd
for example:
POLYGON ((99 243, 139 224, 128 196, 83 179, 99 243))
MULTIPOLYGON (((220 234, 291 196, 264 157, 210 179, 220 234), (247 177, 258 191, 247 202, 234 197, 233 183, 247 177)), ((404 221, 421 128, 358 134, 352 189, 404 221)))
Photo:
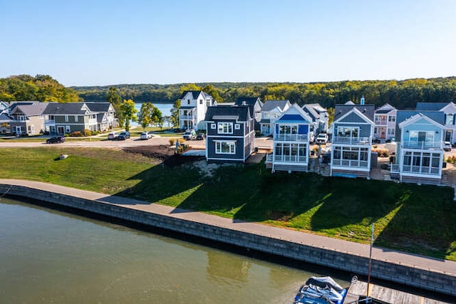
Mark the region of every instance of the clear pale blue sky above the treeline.
POLYGON ((0 78, 63 85, 456 75, 456 1, 0 0, 0 78))

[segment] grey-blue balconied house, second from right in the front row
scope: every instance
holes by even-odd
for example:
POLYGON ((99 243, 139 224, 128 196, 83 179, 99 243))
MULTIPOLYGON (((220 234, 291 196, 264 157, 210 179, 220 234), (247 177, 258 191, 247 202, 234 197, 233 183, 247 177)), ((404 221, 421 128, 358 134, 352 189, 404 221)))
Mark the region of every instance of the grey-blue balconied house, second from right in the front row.
POLYGON ((370 177, 374 105, 336 105, 331 143, 331 176, 370 177))

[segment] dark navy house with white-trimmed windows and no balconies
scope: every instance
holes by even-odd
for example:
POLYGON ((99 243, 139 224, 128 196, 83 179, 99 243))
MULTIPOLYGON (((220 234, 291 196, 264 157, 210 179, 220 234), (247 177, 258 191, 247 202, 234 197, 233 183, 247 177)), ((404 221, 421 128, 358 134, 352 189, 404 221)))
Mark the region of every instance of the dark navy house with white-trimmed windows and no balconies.
POLYGON ((244 163, 254 152, 254 118, 248 105, 208 107, 204 120, 207 162, 244 163))

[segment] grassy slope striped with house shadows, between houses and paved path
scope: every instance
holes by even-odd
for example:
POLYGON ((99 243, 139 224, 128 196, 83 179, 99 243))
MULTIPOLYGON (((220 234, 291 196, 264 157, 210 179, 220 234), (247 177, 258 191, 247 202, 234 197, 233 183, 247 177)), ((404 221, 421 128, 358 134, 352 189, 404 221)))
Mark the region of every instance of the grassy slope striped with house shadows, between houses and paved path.
POLYGON ((456 261, 456 203, 449 187, 316 174, 271 174, 264 164, 219 167, 205 177, 190 165, 166 167, 116 150, 0 149, 2 178, 68 187, 204 211, 219 216, 456 261), (70 156, 55 160, 59 154, 70 156))

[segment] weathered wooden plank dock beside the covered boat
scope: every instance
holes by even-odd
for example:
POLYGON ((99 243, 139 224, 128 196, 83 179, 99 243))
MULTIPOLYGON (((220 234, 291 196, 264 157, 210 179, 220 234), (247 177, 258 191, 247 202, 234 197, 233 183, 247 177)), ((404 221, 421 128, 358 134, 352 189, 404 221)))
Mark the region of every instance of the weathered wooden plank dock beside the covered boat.
POLYGON ((413 295, 411 293, 405 293, 400 290, 395 290, 391 288, 386 288, 383 286, 369 284, 369 294, 368 297, 373 298, 373 302, 358 302, 360 300, 360 295, 366 297, 368 288, 368 283, 363 281, 353 280, 350 288, 348 288, 348 293, 346 295, 344 304, 350 303, 390 303, 390 304, 437 304, 445 303, 437 300, 432 300, 430 298, 422 297, 421 295, 413 295), (377 301, 375 301, 377 300, 377 301))

